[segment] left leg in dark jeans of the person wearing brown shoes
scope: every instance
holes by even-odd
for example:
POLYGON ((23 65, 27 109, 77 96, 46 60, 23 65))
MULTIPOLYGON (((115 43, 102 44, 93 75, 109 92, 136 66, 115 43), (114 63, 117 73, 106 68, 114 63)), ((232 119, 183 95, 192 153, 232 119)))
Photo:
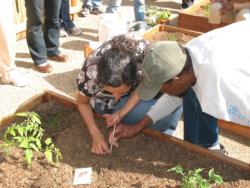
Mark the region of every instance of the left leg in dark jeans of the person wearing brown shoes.
POLYGON ((36 65, 47 61, 47 51, 42 31, 43 0, 25 0, 26 39, 31 57, 36 65))

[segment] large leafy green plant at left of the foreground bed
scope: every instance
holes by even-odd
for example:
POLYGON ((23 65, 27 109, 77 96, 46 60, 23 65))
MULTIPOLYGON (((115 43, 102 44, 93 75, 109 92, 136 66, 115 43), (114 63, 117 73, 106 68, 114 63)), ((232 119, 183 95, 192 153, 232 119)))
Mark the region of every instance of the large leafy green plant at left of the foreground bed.
POLYGON ((33 151, 43 152, 49 162, 58 162, 62 158, 61 152, 51 138, 44 138, 40 116, 35 112, 22 112, 16 115, 25 119, 7 128, 3 134, 4 143, 1 144, 1 148, 5 151, 10 151, 14 147, 22 148, 28 165, 32 163, 33 151))

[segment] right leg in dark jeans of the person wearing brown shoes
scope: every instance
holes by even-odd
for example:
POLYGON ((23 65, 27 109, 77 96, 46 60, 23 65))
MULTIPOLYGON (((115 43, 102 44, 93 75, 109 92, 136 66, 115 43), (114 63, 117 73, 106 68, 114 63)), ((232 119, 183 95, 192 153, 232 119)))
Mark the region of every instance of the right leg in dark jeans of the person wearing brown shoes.
MULTIPOLYGON (((29 2, 29 1, 28 1, 29 2)), ((59 10, 61 0, 44 1, 44 39, 48 56, 59 55, 59 10)))

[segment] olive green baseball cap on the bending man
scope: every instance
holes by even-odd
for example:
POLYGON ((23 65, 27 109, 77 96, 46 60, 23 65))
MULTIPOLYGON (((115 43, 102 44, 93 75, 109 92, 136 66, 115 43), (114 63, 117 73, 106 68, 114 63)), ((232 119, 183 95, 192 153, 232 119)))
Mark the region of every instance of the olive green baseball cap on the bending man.
POLYGON ((143 60, 143 80, 137 88, 140 98, 142 100, 154 98, 164 82, 182 71, 186 59, 184 48, 176 41, 153 44, 143 60))

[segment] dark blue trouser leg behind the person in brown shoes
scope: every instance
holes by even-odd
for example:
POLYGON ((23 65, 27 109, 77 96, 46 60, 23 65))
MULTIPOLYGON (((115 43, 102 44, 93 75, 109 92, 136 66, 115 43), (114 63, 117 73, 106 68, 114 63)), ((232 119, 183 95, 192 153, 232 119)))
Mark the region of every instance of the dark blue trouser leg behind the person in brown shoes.
POLYGON ((75 27, 75 24, 69 17, 69 0, 62 0, 60 8, 60 25, 64 27, 67 31, 75 27))

